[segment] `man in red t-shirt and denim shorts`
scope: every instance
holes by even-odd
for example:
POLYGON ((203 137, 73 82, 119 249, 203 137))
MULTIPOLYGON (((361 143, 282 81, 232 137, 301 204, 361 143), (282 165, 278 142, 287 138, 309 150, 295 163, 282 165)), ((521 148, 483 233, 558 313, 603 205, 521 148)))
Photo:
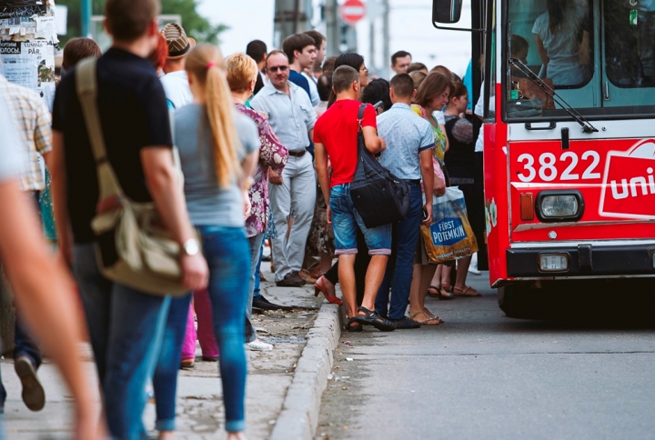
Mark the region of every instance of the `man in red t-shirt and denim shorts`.
MULTIPOLYGON (((362 325, 373 325, 390 332, 396 326, 375 312, 375 298, 391 254, 391 225, 366 227, 350 197, 350 183, 358 165, 358 112, 361 105, 358 101, 361 89, 358 71, 348 65, 339 66, 332 75, 332 88, 337 101, 314 126, 314 154, 318 183, 328 205, 328 223, 334 229, 339 283, 348 305, 348 330, 358 331, 362 325), (332 166, 331 177, 328 175, 328 157, 332 166), (364 300, 359 309, 355 293, 357 228, 364 235, 371 255, 364 300)), ((361 126, 367 150, 371 154, 383 151, 385 143, 378 137, 373 106, 367 105, 361 126)))

